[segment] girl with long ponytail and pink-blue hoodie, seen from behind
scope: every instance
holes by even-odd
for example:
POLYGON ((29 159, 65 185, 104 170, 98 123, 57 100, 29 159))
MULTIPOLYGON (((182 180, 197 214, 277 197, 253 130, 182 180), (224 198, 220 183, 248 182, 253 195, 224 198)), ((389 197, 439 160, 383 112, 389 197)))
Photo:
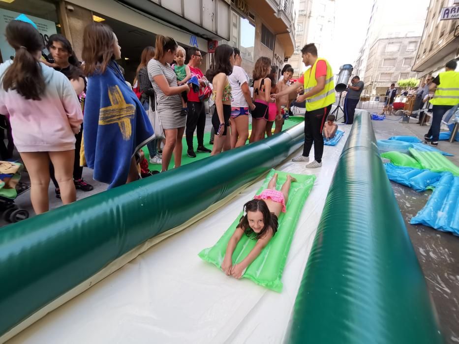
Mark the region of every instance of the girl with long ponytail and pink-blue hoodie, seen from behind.
POLYGON ((43 41, 29 23, 12 20, 5 29, 14 59, 0 65, 0 113, 11 121, 14 143, 31 178, 36 214, 49 209, 50 160, 64 204, 75 201, 75 135, 83 120, 70 81, 39 62, 43 41))

